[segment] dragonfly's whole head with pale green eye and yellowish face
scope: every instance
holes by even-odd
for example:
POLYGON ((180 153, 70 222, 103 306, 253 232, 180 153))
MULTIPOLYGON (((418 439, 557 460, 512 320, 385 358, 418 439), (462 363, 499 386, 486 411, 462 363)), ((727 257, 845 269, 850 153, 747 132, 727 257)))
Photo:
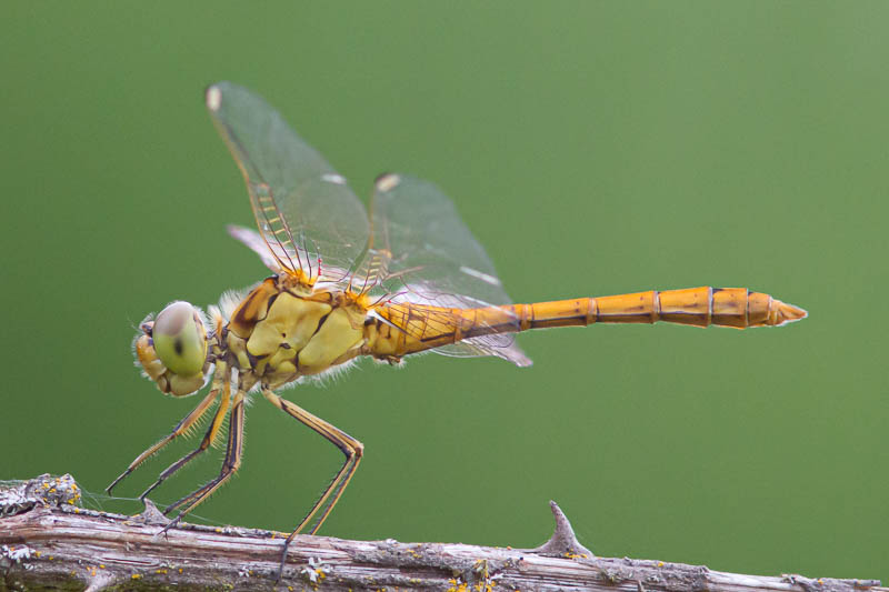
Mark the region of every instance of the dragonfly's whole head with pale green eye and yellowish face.
POLYGON ((133 343, 137 365, 167 394, 182 397, 207 382, 207 330, 199 309, 188 302, 169 304, 139 325, 133 343))

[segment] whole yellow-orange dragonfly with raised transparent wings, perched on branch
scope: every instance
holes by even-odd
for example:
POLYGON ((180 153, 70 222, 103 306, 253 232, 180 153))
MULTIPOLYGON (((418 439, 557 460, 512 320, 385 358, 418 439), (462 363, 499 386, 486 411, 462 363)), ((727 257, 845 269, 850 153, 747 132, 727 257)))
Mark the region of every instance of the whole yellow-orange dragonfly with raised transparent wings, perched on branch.
MULTIPOLYGON (((211 409, 200 444, 159 474, 144 500, 200 456, 228 417, 219 474, 164 509, 179 523, 241 465, 244 407, 261 393, 272 405, 336 445, 344 459, 283 544, 314 534, 363 455, 363 444, 282 398, 279 391, 347 368, 360 358, 398 364, 409 355, 496 357, 531 364, 521 331, 592 323, 780 327, 807 312, 746 288, 692 288, 515 304, 493 263, 433 183, 407 174, 377 178, 369 213, 346 179, 260 96, 231 82, 206 91, 210 118, 243 174, 257 230, 229 233, 272 274, 228 293, 209 314, 174 301, 148 315, 134 339, 138 365, 172 397, 209 392, 170 434, 139 454, 107 489, 190 432, 211 409)), ((279 571, 280 578, 280 571, 279 571)))

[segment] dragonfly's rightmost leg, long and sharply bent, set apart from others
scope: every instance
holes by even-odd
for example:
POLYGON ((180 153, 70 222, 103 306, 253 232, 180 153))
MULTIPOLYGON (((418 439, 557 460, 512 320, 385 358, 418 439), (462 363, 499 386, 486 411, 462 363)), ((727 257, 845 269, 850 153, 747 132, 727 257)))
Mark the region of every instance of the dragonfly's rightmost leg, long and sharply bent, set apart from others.
POLYGON ((358 464, 361 462, 361 456, 364 452, 364 444, 347 434, 342 430, 326 422, 321 418, 312 415, 296 403, 292 403, 287 399, 281 399, 269 389, 263 388, 262 395, 266 397, 271 404, 288 415, 299 420, 301 423, 308 425, 324 437, 329 442, 340 449, 343 455, 346 455, 346 461, 342 463, 342 468, 327 486, 324 493, 317 502, 314 502, 314 505, 309 513, 306 514, 306 518, 302 519, 299 525, 287 538, 287 541, 284 541, 284 548, 281 553, 281 565, 278 569, 278 580, 280 580, 283 573, 284 562, 287 560, 287 550, 290 546, 290 542, 297 534, 300 533, 300 531, 302 531, 302 529, 306 528, 309 522, 311 522, 316 514, 318 514, 318 520, 309 531, 309 534, 314 534, 318 532, 318 529, 321 528, 321 524, 323 524, 324 520, 327 520, 327 516, 330 515, 333 506, 337 505, 342 492, 346 490, 346 485, 349 484, 352 475, 354 475, 356 469, 358 469, 358 464))

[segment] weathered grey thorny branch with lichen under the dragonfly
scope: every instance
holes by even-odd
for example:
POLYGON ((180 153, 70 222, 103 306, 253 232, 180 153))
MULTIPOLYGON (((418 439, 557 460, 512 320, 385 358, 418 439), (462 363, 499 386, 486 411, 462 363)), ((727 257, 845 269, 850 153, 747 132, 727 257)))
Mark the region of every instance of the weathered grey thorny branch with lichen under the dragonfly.
POLYGON ((701 565, 593 556, 552 504, 538 549, 297 536, 280 583, 281 533, 86 510, 70 475, 0 486, 0 590, 592 590, 597 592, 889 592, 876 580, 759 576, 701 565))

